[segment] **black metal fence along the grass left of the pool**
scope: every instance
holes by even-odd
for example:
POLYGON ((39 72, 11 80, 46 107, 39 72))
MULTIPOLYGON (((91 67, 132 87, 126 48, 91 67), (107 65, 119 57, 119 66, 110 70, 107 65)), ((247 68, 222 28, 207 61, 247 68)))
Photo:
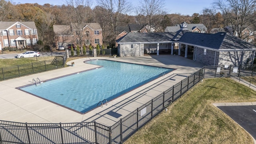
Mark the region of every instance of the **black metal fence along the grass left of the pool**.
POLYGON ((9 66, 0 68, 0 81, 25 76, 28 74, 36 74, 48 70, 63 68, 66 63, 66 55, 55 56, 53 60, 41 62, 33 62, 29 64, 21 64, 17 66, 9 66))

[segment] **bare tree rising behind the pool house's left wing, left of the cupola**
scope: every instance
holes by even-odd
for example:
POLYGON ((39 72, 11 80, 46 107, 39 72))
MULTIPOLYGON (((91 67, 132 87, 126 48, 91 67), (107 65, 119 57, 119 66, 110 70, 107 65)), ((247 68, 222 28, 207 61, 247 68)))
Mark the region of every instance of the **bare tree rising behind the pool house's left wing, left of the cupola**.
POLYGON ((164 0, 141 0, 140 6, 136 8, 136 14, 147 18, 144 24, 148 24, 148 32, 150 32, 153 25, 161 25, 161 21, 164 19, 166 14, 164 0))

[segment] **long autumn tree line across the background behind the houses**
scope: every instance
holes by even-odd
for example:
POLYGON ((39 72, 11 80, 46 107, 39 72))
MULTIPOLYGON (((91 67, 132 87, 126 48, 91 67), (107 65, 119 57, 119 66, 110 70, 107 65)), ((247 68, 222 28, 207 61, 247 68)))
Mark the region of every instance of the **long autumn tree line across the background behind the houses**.
POLYGON ((231 26, 238 37, 243 38, 245 27, 256 30, 255 10, 256 0, 214 0, 212 7, 203 8, 200 14, 192 16, 167 14, 164 0, 140 0, 139 6, 133 6, 129 0, 97 0, 94 8, 90 0, 66 0, 66 4, 62 5, 16 4, 0 0, 0 20, 34 21, 38 38, 46 46, 54 43, 53 25, 70 25, 71 22, 76 24, 77 30, 81 30, 86 23, 100 23, 103 43, 110 45, 115 43, 118 35, 116 28, 128 24, 149 24, 158 32, 164 32, 166 26, 182 22, 201 23, 208 28, 208 33, 213 28, 222 30, 231 26), (134 15, 131 15, 132 12, 134 15))

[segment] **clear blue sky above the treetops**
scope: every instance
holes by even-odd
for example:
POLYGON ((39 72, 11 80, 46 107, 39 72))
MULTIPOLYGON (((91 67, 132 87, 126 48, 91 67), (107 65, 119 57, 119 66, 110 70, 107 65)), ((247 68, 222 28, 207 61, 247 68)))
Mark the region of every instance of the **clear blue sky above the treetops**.
MULTIPOLYGON (((7 0, 6 0, 7 1, 7 0)), ((38 3, 40 5, 52 4, 52 5, 62 5, 66 4, 66 0, 10 0, 16 4, 21 3, 38 3)), ((140 0, 129 0, 133 5, 138 5, 140 0)), ((165 11, 168 14, 182 14, 182 15, 192 15, 194 13, 201 13, 204 8, 211 7, 214 0, 164 0, 165 1, 165 11)), ((96 0, 92 0, 92 8, 96 5, 96 0)))

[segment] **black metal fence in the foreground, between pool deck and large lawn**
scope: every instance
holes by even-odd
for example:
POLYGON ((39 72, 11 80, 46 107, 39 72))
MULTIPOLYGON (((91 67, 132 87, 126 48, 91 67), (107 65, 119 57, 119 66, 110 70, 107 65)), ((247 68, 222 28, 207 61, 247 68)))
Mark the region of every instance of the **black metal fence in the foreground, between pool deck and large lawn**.
POLYGON ((97 122, 28 124, 0 120, 0 143, 13 144, 122 144, 182 94, 197 84, 204 69, 137 108, 112 126, 97 122))

